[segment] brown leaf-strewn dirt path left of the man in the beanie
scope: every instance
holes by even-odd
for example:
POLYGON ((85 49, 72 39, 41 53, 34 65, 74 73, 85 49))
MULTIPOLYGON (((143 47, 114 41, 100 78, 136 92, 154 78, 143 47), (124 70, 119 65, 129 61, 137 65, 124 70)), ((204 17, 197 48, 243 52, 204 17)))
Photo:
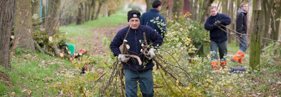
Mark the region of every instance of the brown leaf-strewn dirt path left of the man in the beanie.
POLYGON ((109 46, 104 45, 102 38, 106 36, 112 40, 114 38, 113 33, 116 34, 126 26, 128 26, 128 24, 118 24, 115 28, 93 28, 90 29, 92 33, 88 36, 78 35, 77 37, 73 37, 73 39, 76 40, 75 52, 78 52, 81 48, 88 51, 90 56, 107 55, 110 49, 109 46))

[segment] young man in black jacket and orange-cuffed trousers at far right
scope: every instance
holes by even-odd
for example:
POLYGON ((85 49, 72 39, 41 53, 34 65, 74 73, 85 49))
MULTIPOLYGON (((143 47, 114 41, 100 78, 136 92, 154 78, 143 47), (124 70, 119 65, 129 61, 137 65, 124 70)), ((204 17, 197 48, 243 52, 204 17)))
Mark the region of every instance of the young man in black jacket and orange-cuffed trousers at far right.
POLYGON ((247 38, 245 36, 247 32, 247 10, 248 10, 248 3, 242 2, 241 7, 238 10, 237 20, 236 20, 236 31, 240 34, 237 34, 239 37, 239 50, 237 53, 232 57, 231 61, 243 63, 244 54, 248 48, 247 38), (244 34, 244 35, 241 35, 244 34))

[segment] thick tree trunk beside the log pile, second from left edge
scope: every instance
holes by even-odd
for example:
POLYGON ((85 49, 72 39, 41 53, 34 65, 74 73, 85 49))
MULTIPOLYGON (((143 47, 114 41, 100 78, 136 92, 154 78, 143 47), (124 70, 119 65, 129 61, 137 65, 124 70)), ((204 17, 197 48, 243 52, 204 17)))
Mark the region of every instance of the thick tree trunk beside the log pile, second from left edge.
POLYGON ((32 33, 32 15, 30 0, 16 0, 15 3, 15 42, 12 50, 16 47, 24 48, 25 50, 35 51, 32 33))

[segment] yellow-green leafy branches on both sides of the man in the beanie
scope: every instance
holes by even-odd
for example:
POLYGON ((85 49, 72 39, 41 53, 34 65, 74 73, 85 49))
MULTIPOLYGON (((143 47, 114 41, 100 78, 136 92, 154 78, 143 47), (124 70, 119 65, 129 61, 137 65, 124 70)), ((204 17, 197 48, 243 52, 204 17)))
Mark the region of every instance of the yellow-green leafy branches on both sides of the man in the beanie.
MULTIPOLYGON (((155 19, 157 20, 157 18, 155 19)), ((163 26, 163 23, 160 21, 155 23, 163 26)), ((163 86, 162 88, 154 89, 155 96, 219 96, 223 94, 230 96, 232 94, 239 94, 238 92, 249 92, 249 87, 240 88, 252 85, 252 83, 248 83, 251 79, 249 79, 249 75, 246 72, 240 74, 228 73, 228 68, 225 68, 225 70, 220 69, 217 72, 211 71, 212 67, 209 65, 211 62, 210 56, 214 52, 210 52, 207 59, 202 57, 193 58, 191 64, 183 58, 194 50, 191 44, 192 39, 189 37, 196 35, 191 33, 198 30, 190 22, 181 23, 167 21, 169 27, 167 28, 164 43, 156 51, 157 60, 162 62, 165 71, 163 69, 156 70, 156 67, 154 67, 154 84, 163 86), (161 60, 165 60, 167 63, 161 60), (233 91, 226 91, 228 89, 233 91)), ((207 34, 197 35, 196 37, 201 38, 205 35, 207 34)), ((195 39, 194 41, 202 42, 200 39, 195 39)), ((110 44, 108 38, 103 38, 103 42, 106 45, 110 44)), ((67 77, 67 79, 53 83, 51 87, 63 90, 66 94, 78 93, 86 97, 122 96, 123 92, 121 90, 123 88, 121 83, 123 82, 121 82, 118 75, 118 70, 120 70, 121 66, 115 60, 117 58, 113 56, 112 52, 108 52, 108 55, 102 57, 96 55, 75 59, 72 63, 76 66, 76 69, 81 69, 85 64, 91 64, 93 66, 91 71, 88 71, 84 77, 66 74, 64 77, 67 77), (105 75, 103 75, 104 73, 105 75)), ((141 94, 141 92, 138 91, 138 94, 141 94)))

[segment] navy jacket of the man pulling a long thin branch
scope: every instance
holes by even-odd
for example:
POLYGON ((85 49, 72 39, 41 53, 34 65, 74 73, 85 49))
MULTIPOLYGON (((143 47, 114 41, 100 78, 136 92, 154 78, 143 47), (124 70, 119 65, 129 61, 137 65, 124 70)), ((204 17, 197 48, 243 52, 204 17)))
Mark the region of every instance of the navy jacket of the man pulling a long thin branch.
MULTIPOLYGON (((214 23, 217 20, 220 20, 221 24, 224 26, 229 25, 231 23, 231 19, 227 15, 217 13, 216 16, 210 16, 207 18, 204 27, 206 30, 210 30, 210 40, 215 42, 221 42, 227 40, 227 33, 219 28, 216 28, 214 23)), ((225 27, 221 26, 221 28, 226 31, 225 27)))

